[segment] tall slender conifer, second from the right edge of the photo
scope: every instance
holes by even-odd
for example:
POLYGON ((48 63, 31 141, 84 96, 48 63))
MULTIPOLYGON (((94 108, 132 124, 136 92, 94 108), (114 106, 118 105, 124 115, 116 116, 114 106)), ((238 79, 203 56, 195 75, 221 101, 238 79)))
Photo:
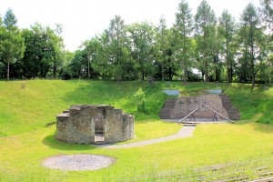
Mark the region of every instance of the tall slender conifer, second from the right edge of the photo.
POLYGON ((258 15, 258 9, 253 4, 248 4, 244 9, 240 18, 240 39, 242 47, 245 47, 244 58, 249 61, 249 75, 251 76, 252 86, 255 86, 255 76, 257 71, 255 65, 257 63, 258 53, 262 51, 259 41, 262 41, 263 30, 258 15))

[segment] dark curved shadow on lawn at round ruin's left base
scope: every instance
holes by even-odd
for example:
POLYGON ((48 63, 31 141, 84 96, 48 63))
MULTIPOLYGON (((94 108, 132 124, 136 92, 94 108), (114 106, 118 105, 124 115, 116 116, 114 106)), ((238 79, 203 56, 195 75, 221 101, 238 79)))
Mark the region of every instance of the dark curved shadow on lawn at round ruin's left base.
POLYGON ((56 148, 58 150, 88 150, 95 149, 87 144, 68 144, 55 139, 54 135, 45 136, 43 144, 48 147, 56 148))

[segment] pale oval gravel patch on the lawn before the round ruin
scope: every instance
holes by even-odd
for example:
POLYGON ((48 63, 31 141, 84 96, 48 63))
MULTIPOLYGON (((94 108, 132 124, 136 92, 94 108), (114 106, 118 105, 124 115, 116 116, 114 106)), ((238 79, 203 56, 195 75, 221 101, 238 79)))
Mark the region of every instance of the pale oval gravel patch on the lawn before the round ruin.
POLYGON ((114 162, 113 157, 99 155, 61 155, 45 158, 43 166, 66 171, 86 171, 108 167, 114 162))

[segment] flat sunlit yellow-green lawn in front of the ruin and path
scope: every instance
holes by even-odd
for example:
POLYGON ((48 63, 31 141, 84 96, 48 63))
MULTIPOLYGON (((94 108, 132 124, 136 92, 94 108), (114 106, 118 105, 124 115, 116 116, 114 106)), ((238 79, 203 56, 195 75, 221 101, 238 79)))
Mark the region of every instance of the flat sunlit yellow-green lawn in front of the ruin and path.
POLYGON ((49 127, 1 138, 2 181, 22 178, 25 181, 127 181, 156 177, 167 171, 272 157, 273 154, 273 126, 257 123, 199 125, 191 138, 124 149, 66 144, 56 141, 54 134, 55 127, 49 127), (116 163, 86 172, 63 172, 42 167, 45 157, 63 154, 104 155, 115 157, 116 163))

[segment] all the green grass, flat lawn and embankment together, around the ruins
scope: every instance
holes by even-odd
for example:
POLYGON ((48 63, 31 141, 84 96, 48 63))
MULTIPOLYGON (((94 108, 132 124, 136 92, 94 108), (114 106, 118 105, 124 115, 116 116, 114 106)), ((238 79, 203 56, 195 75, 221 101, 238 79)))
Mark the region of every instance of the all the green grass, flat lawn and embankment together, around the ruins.
MULTIPOLYGON (((214 86, 175 82, 170 87, 191 95, 214 86)), ((190 178, 197 168, 215 164, 244 164, 253 178, 255 167, 273 170, 273 126, 261 124, 273 123, 273 89, 264 91, 262 86, 252 90, 221 85, 241 111, 243 120, 237 124, 199 125, 193 137, 146 147, 105 149, 66 144, 54 139, 55 126, 44 127, 71 104, 112 104, 136 115, 133 141, 168 136, 181 126, 158 120, 167 97, 160 89, 166 87, 162 82, 147 86, 140 82, 34 80, 26 81, 23 88, 21 81, 0 82, 0 181, 177 181, 179 175, 190 178), (147 113, 137 113, 132 102, 139 87, 147 96, 147 113), (116 163, 86 172, 41 166, 45 157, 60 154, 99 154, 115 157, 116 163)), ((234 167, 232 172, 236 171, 234 167)))

